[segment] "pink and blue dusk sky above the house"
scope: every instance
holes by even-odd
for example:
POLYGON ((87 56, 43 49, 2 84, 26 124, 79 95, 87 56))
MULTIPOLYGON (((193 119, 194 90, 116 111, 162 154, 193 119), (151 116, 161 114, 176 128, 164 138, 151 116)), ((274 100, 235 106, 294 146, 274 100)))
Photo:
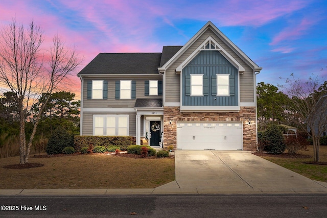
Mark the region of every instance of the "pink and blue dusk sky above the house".
MULTIPOLYGON (((184 45, 210 20, 263 67, 257 82, 277 86, 291 73, 303 79, 327 76, 323 0, 2 0, 1 28, 13 17, 40 25, 45 45, 58 34, 75 46, 83 58, 79 70, 99 53, 184 45)), ((79 95, 79 78, 72 78, 69 91, 79 95)))

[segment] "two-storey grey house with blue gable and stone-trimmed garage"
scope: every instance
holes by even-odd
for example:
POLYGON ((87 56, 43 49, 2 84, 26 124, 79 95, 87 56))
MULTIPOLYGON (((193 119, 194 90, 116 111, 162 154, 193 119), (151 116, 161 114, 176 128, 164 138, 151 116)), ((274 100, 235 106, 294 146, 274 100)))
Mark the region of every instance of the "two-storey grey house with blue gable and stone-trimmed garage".
POLYGON ((81 135, 130 135, 152 147, 256 150, 262 68, 212 22, 162 53, 100 53, 82 82, 81 135))

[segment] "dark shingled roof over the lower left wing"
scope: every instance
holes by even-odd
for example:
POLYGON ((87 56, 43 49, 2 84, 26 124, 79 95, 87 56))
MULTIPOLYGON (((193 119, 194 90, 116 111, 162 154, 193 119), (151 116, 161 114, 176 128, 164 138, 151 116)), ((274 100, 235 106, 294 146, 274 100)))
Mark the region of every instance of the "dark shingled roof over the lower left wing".
POLYGON ((79 73, 105 74, 158 74, 161 53, 100 53, 79 73))

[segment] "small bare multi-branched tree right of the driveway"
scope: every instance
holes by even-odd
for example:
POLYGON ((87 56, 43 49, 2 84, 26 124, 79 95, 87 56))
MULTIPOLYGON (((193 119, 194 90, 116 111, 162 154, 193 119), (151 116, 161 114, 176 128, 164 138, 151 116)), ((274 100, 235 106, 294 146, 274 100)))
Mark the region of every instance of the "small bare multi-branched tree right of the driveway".
POLYGON ((287 79, 287 86, 282 86, 289 95, 288 111, 296 117, 300 127, 313 139, 314 161, 319 162, 319 139, 327 127, 327 96, 326 82, 322 83, 318 77, 310 77, 303 82, 287 79))

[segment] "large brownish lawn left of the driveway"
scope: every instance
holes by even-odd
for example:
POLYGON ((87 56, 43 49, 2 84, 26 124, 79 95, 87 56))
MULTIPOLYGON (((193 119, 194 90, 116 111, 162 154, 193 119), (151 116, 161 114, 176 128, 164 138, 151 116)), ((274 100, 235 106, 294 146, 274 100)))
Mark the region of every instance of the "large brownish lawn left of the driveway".
POLYGON ((175 180, 175 160, 113 155, 29 158, 44 166, 8 169, 19 157, 0 159, 0 189, 154 188, 175 180))

